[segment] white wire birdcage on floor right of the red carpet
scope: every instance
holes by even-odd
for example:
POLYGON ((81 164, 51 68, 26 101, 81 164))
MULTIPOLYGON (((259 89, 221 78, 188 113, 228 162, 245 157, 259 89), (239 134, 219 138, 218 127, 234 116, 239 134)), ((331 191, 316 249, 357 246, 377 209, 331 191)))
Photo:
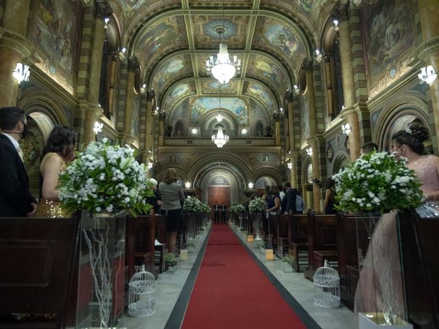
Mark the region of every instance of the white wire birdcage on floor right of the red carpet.
POLYGON ((340 307, 340 276, 329 267, 324 260, 324 266, 319 267, 313 276, 314 304, 326 308, 340 307))

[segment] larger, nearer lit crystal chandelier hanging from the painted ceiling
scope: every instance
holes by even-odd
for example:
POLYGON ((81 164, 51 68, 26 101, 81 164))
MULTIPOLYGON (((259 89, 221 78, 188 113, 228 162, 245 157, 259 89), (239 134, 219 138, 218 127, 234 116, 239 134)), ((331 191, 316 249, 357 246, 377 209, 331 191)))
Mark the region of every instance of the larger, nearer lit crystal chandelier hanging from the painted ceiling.
MULTIPOLYGON (((216 27, 215 32, 219 35, 219 39, 224 41, 224 33, 226 33, 226 27, 224 26, 224 1, 222 3, 222 26, 216 27)), ((226 84, 231 78, 235 77, 235 74, 241 72, 241 60, 235 55, 233 56, 233 62, 230 62, 227 44, 220 42, 217 59, 213 60, 213 56, 210 56, 209 60, 206 60, 206 71, 211 77, 215 77, 219 83, 226 84)))

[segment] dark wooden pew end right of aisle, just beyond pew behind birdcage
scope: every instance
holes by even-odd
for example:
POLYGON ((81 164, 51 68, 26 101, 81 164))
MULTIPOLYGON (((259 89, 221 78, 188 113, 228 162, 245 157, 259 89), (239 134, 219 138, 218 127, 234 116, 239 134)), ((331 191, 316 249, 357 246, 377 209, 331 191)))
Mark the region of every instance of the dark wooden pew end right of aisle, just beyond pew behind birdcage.
POLYGON ((294 257, 293 268, 300 269, 308 266, 308 215, 290 215, 288 221, 289 254, 294 257))

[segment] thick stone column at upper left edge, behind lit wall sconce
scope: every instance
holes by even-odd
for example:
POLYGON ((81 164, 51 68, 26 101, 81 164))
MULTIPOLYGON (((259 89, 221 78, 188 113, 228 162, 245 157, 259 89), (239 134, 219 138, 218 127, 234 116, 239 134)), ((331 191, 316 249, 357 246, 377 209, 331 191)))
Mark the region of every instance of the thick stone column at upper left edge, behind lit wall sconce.
POLYGON ((0 27, 0 108, 16 104, 19 85, 12 71, 34 52, 34 46, 25 38, 29 3, 30 0, 5 1, 0 27))

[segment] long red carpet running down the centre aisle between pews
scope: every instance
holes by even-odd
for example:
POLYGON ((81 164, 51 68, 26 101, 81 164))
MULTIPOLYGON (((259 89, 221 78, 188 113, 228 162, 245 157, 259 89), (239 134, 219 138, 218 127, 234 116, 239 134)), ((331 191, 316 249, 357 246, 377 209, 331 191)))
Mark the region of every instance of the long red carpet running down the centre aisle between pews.
POLYGON ((307 328, 230 228, 212 230, 182 328, 307 328))

